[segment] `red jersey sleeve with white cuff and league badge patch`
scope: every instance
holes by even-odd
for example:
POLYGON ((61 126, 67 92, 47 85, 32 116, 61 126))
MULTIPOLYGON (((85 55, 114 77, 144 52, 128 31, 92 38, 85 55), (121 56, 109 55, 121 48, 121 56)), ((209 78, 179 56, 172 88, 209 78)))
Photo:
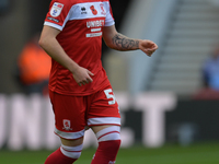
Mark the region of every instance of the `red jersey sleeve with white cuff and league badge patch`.
POLYGON ((69 0, 53 0, 50 2, 49 11, 46 15, 44 25, 62 31, 64 26, 68 22, 70 8, 71 4, 69 0))

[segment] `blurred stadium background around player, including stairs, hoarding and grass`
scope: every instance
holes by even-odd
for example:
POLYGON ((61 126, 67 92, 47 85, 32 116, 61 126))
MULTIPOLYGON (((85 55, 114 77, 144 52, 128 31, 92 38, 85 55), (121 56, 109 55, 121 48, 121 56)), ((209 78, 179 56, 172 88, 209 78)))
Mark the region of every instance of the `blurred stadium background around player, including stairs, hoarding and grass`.
MULTIPOLYGON (((50 0, 0 0, 0 163, 43 164, 59 147, 48 97, 26 96, 14 79, 25 43, 43 27, 50 0)), ((103 45, 120 105, 117 163, 218 164, 219 99, 195 99, 203 62, 219 46, 218 0, 111 0, 118 32, 159 45, 153 57, 103 45)), ((88 131, 78 164, 96 143, 88 131)))

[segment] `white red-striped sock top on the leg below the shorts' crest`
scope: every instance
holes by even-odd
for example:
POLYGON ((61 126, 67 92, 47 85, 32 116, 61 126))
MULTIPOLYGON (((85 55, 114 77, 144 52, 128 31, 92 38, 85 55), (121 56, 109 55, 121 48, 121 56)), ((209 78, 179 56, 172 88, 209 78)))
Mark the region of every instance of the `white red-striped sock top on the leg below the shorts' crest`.
POLYGON ((79 159, 81 156, 82 144, 77 147, 67 147, 61 144, 61 152, 64 155, 71 157, 71 159, 79 159))

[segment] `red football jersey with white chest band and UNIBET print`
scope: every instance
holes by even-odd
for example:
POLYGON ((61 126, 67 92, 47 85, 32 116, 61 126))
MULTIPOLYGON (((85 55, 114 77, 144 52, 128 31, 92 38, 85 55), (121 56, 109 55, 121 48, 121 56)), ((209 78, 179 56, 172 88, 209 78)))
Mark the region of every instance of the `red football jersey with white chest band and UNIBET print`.
POLYGON ((44 25, 60 30, 57 40, 67 55, 94 75, 79 86, 72 73, 53 60, 49 89, 67 95, 89 95, 107 85, 102 67, 102 27, 114 25, 108 0, 53 0, 44 25))

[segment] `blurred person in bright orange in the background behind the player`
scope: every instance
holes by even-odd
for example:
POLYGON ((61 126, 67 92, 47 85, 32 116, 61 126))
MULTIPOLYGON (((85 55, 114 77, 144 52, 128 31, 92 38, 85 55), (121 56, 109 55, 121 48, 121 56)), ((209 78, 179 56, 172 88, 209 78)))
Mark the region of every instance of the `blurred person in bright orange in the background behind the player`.
POLYGON ((48 94, 50 57, 38 45, 39 34, 26 43, 18 57, 15 78, 26 94, 48 94))

